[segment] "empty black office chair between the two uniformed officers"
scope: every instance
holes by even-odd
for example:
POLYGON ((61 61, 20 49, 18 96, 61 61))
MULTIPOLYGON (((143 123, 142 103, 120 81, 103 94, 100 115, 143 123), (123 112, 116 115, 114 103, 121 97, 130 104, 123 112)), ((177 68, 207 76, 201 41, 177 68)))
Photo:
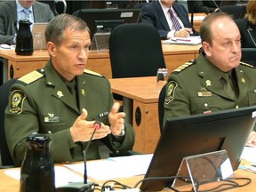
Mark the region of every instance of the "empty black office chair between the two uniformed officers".
MULTIPOLYGON (((158 68, 165 68, 158 31, 142 23, 123 24, 112 30, 109 57, 112 78, 156 76, 158 68)), ((114 94, 114 99, 123 97, 114 94)))

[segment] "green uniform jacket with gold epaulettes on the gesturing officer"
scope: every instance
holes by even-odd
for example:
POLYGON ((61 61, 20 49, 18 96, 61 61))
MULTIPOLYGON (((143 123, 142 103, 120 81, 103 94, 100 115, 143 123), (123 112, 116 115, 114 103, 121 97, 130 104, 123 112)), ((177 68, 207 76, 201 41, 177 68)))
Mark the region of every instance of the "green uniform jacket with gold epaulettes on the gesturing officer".
MULTIPOLYGON (((68 87, 61 80, 49 61, 44 69, 20 77, 11 88, 9 105, 5 110, 5 132, 11 156, 16 165, 24 157, 26 138, 33 132, 45 133, 52 140, 51 153, 55 163, 81 161, 87 142, 75 143, 69 128, 81 115, 82 108, 88 111, 86 120, 98 118, 100 113, 110 111, 114 100, 107 78, 84 70, 76 76, 77 107, 68 87)), ((108 123, 108 116, 100 118, 108 123)), ((124 139, 112 134, 101 139, 114 153, 132 150, 135 133, 132 125, 125 124, 124 139)), ((92 140, 86 158, 98 159, 99 140, 92 140)))

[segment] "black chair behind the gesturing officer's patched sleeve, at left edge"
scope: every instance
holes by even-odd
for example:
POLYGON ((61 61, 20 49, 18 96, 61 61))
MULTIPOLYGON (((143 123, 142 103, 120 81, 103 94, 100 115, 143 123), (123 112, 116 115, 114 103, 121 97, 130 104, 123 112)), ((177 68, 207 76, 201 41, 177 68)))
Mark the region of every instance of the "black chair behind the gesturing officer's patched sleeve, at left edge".
POLYGON ((8 100, 9 100, 9 90, 16 82, 16 79, 9 80, 2 84, 0 86, 0 151, 1 151, 1 161, 2 161, 2 166, 1 168, 8 168, 8 167, 13 167, 14 163, 12 161, 12 156, 10 155, 9 148, 7 146, 7 142, 5 139, 5 131, 4 131, 4 110, 8 105, 8 100))

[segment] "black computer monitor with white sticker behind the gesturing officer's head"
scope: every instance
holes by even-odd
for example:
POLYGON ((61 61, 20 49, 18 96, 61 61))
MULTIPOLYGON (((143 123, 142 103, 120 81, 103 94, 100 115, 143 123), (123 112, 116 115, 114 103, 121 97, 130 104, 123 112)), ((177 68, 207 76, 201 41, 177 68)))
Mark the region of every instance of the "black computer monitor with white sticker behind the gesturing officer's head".
POLYGON ((140 9, 81 9, 73 14, 87 23, 93 37, 96 31, 110 32, 117 25, 137 23, 140 9))

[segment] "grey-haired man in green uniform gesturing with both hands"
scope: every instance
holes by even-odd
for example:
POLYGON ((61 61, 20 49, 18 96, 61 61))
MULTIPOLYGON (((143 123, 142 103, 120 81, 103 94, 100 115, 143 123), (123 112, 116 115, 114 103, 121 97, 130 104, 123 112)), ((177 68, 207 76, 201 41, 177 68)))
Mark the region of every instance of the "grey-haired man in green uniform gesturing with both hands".
POLYGON ((45 38, 51 60, 44 69, 17 80, 5 111, 6 140, 14 163, 20 166, 26 138, 33 132, 50 136, 55 163, 83 160, 96 120, 101 127, 86 153, 88 160, 100 158, 100 140, 116 155, 132 150, 134 130, 124 125, 125 114, 114 104, 108 79, 84 69, 91 45, 86 23, 61 14, 49 22, 45 38))

